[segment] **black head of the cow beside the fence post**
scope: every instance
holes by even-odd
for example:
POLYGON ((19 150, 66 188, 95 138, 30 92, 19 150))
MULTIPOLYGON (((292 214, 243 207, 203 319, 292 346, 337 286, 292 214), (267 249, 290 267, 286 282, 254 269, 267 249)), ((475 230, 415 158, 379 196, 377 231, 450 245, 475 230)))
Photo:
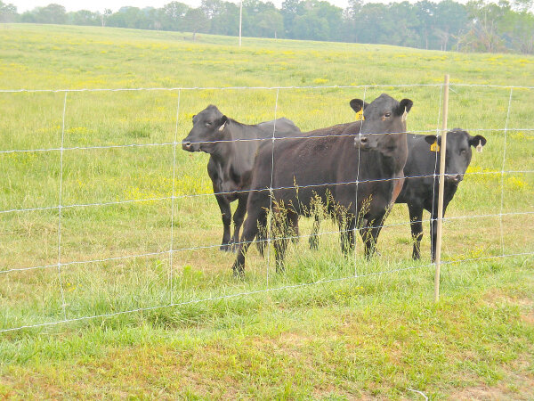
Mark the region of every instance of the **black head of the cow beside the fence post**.
MULTIPOLYGON (((441 136, 426 135, 427 143, 438 143, 441 146, 441 136)), ((465 170, 471 162, 471 146, 484 146, 486 138, 482 135, 471 136, 461 128, 454 128, 447 133, 447 154, 445 155, 445 182, 459 184, 464 179, 465 170)), ((439 169, 439 168, 438 168, 439 169)))

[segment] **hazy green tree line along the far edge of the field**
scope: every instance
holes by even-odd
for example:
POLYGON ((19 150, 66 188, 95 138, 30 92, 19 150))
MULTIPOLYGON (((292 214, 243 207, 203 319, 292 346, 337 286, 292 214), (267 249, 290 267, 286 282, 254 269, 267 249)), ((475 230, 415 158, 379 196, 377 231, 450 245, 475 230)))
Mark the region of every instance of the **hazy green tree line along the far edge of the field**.
MULTIPOLYGON (((487 3, 453 0, 415 4, 350 0, 342 9, 321 0, 285 0, 281 8, 243 1, 244 37, 276 37, 384 44, 467 52, 534 53, 534 0, 487 3)), ((94 25, 216 35, 239 35, 239 4, 202 0, 198 8, 177 1, 161 8, 122 7, 117 12, 66 12, 60 4, 18 13, 0 1, 0 22, 94 25)))

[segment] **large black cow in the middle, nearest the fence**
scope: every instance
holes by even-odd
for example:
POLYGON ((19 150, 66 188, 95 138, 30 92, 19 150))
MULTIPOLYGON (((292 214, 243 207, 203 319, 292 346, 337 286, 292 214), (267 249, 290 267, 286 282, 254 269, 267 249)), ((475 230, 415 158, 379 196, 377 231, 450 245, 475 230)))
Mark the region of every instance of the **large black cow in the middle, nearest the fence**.
POLYGON ((340 126, 329 127, 304 139, 260 146, 234 274, 244 274, 245 254, 260 227, 267 225, 271 202, 273 228, 279 235, 274 241, 277 271, 284 267, 287 233, 296 233, 298 217, 310 216, 317 201, 340 226, 342 250, 352 248, 352 230, 358 226, 369 257, 386 212, 401 192, 408 157, 405 120, 412 104, 387 94, 368 105, 354 99, 352 108, 363 108, 365 120, 341 126, 341 133, 333 130, 340 126))

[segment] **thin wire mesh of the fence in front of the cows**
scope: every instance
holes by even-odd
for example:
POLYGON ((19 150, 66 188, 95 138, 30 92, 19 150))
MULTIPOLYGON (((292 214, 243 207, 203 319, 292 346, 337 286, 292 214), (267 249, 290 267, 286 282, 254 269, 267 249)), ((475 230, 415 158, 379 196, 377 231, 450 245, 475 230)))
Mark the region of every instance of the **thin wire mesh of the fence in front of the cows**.
MULTIPOLYGON (((452 260, 447 260, 444 262, 441 262, 441 265, 452 265, 456 263, 461 262, 467 262, 467 261, 476 261, 476 260, 488 260, 491 258, 511 258, 511 257, 520 257, 520 256, 531 256, 534 255, 533 252, 522 252, 522 253, 509 253, 505 254, 505 244, 504 244, 504 232, 503 232, 503 217, 506 216, 530 216, 534 214, 534 211, 524 211, 524 212, 508 212, 504 213, 504 186, 505 186, 505 180, 504 176, 505 174, 531 174, 534 173, 534 170, 530 169, 523 169, 523 170, 505 170, 506 165, 506 138, 509 132, 520 132, 527 133, 530 135, 530 133, 534 132, 534 128, 510 128, 508 127, 509 122, 509 116, 510 116, 510 110, 511 110, 511 104, 512 104, 512 94, 514 89, 534 89, 534 86, 492 86, 492 85, 477 85, 477 84, 449 84, 453 87, 475 87, 475 88, 498 88, 498 89, 509 89, 510 95, 508 98, 508 110, 506 114, 506 125, 504 128, 472 128, 472 129, 465 129, 469 132, 495 132, 495 133, 504 133, 504 141, 505 146, 503 150, 503 163, 502 168, 500 171, 476 171, 476 172, 466 172, 465 176, 471 176, 471 175, 496 175, 500 173, 501 176, 501 199, 500 199, 500 212, 496 214, 478 214, 478 215, 472 215, 472 216, 457 216, 457 217, 444 217, 442 220, 444 222, 449 221, 455 221, 460 219, 469 219, 469 218, 490 218, 490 217, 499 217, 500 222, 500 236, 501 236, 501 254, 496 256, 488 256, 488 257, 481 257, 481 258, 457 258, 452 260)), ((16 331, 20 329, 25 328, 36 328, 36 327, 45 327, 50 326, 53 324, 59 324, 59 323, 69 323, 69 322, 77 322, 77 321, 84 321, 88 319, 94 319, 99 317, 109 317, 114 315, 123 315, 127 313, 134 313, 134 312, 140 312, 140 311, 150 311, 155 310, 163 307, 178 307, 183 305, 189 305, 199 302, 207 302, 207 301, 213 301, 213 300, 221 300, 221 299, 231 299, 236 298, 240 296, 247 296, 247 295, 253 295, 253 294, 259 294, 259 293, 265 293, 265 292, 271 292, 271 291, 282 291, 282 290, 288 290, 288 289, 296 289, 296 288, 303 288, 307 286, 317 285, 320 283, 328 283, 328 282, 341 282, 348 279, 357 279, 360 277, 366 277, 366 276, 372 276, 372 275, 379 275, 379 274, 390 274, 395 272, 402 272, 402 271, 408 271, 423 267, 429 267, 434 266, 434 264, 429 265, 422 265, 422 266, 409 266, 409 267, 403 267, 398 269, 392 269, 392 270, 386 270, 381 272, 373 272, 368 274, 358 274, 357 270, 357 253, 356 253, 356 247, 354 247, 354 274, 341 277, 341 278, 331 278, 331 279, 325 279, 325 280, 319 280, 315 282, 306 282, 306 283, 299 283, 299 284, 290 284, 285 285, 281 287, 273 287, 270 286, 270 243, 271 243, 271 224, 268 225, 269 228, 269 234, 267 235, 266 239, 260 240, 267 243, 267 266, 266 266, 266 287, 263 290, 258 291, 242 291, 236 294, 228 294, 228 295, 222 295, 222 296, 215 296, 215 297, 208 297, 204 299, 191 299, 188 301, 183 302, 174 302, 174 254, 178 252, 183 251, 192 251, 192 250, 207 250, 207 249, 214 249, 218 248, 219 244, 214 245, 205 245, 205 246, 196 246, 196 247, 189 247, 189 248, 181 248, 181 249, 174 249, 174 240, 175 240, 175 227, 174 227, 174 214, 177 208, 176 200, 181 199, 188 199, 188 198, 197 198, 199 196, 212 196, 214 193, 188 193, 176 196, 176 147, 177 145, 181 144, 181 142, 178 142, 178 129, 180 126, 180 102, 181 102, 181 94, 182 91, 202 91, 202 90, 276 90, 276 101, 274 103, 274 118, 276 120, 277 118, 277 111, 278 111, 278 104, 279 104, 279 91, 280 90, 308 90, 308 89, 364 89, 364 101, 367 94, 368 88, 405 88, 405 87, 439 87, 440 88, 440 104, 441 104, 441 94, 443 89, 443 84, 407 84, 407 85, 364 85, 364 86, 255 86, 255 87, 244 87, 244 86, 233 86, 233 87, 175 87, 175 88, 116 88, 116 89, 20 89, 20 90, 0 90, 0 93, 5 94, 17 94, 17 93, 63 93, 64 94, 64 100, 63 100, 63 115, 62 115, 62 127, 61 127, 61 147, 60 148, 50 148, 50 149, 26 149, 26 150, 4 150, 0 151, 0 156, 2 154, 12 154, 12 153, 27 153, 27 152, 47 152, 47 151, 59 151, 60 152, 60 185, 59 185, 59 205, 53 206, 53 207, 44 207, 44 208, 33 208, 33 209, 6 209, 6 210, 0 210, 0 215, 7 214, 7 213, 20 213, 20 212, 30 212, 30 211, 38 211, 38 210, 58 210, 59 218, 58 218, 58 262, 53 265, 46 265, 46 266, 29 266, 29 267, 19 267, 19 268, 10 268, 0 271, 0 274, 8 274, 10 272, 24 272, 24 271, 31 271, 31 270, 37 270, 37 269, 44 269, 48 267, 56 267, 58 269, 58 276, 59 276, 59 282, 60 282, 60 291, 61 291, 61 310, 63 319, 56 322, 48 322, 48 323, 36 323, 36 324, 28 324, 28 325, 21 325, 20 327, 16 328, 7 328, 7 329, 0 329, 0 332, 5 331, 16 331), (166 91, 166 92, 175 92, 177 93, 177 105, 176 105, 176 121, 175 121, 175 127, 174 127, 174 141, 168 142, 168 143, 126 143, 126 144, 111 144, 111 145, 94 145, 94 146, 73 146, 73 147, 65 147, 65 133, 68 131, 65 130, 65 118, 66 118, 66 108, 67 108, 67 95, 69 93, 78 93, 78 92, 141 92, 141 91, 166 91), (95 202, 95 203, 87 203, 87 204, 71 204, 71 205, 63 205, 63 153, 64 151, 85 151, 85 150, 101 150, 101 149, 124 149, 124 148, 144 148, 144 147, 165 147, 165 146, 172 146, 173 148, 173 167, 172 167, 172 179, 173 179, 173 187, 172 187, 172 195, 171 196, 164 196, 164 197, 154 197, 154 198, 148 198, 143 200, 125 200, 125 201, 108 201, 108 202, 95 202), (84 208, 84 207, 93 207, 93 206, 112 206, 112 205, 122 205, 122 204, 134 204, 139 202, 149 202, 149 201, 171 201, 170 205, 170 211, 171 211, 171 230, 170 230, 170 238, 169 242, 170 245, 167 250, 158 250, 154 252, 146 252, 141 253, 137 255, 125 255, 125 256, 119 256, 119 257, 111 257, 111 258, 101 258, 101 259, 93 259, 93 260, 73 260, 69 262, 62 261, 62 240, 61 240, 61 232, 63 231, 61 218, 62 218, 62 210, 63 209, 73 209, 73 208, 84 208), (63 279, 62 279, 62 268, 67 266, 77 266, 82 264, 94 264, 94 263, 103 263, 103 262, 109 262, 109 261, 120 261, 125 259, 131 259, 131 258, 150 258, 150 257, 157 257, 157 256, 164 256, 167 255, 169 259, 169 290, 170 290, 170 299, 169 303, 166 305, 158 305, 153 307, 139 307, 139 308, 132 308, 125 311, 117 311, 117 312, 110 312, 107 314, 101 314, 101 315, 90 315, 90 316, 77 316, 73 318, 68 318, 67 315, 67 304, 65 302, 64 297, 64 288, 63 288, 63 279)), ((438 107, 438 122, 440 120, 440 113, 441 113, 441 107, 438 107)), ((360 127, 361 131, 361 127, 360 127)), ((426 134, 426 133, 435 133, 435 135, 440 135, 443 132, 443 129, 440 129, 439 127, 436 127, 436 129, 432 130, 421 130, 421 131, 410 131, 408 134, 426 134)), ((368 134, 368 133, 366 133, 368 134)), ((394 134, 394 133, 392 133, 394 134)), ((343 183, 321 183, 321 184, 308 184, 308 185, 298 185, 295 186, 285 186, 285 187, 279 187, 279 188, 273 188, 273 171, 274 171, 274 143, 275 141, 279 140, 285 140, 285 139, 312 139, 312 138, 322 138, 322 137, 328 137, 328 136, 357 136, 361 135, 359 133, 354 134, 343 134, 343 135, 302 135, 302 136, 292 136, 292 137, 276 137, 276 122, 274 123, 272 137, 268 138, 250 138, 250 139, 238 139, 238 140, 222 140, 222 141, 209 141, 209 143, 233 143, 233 142, 254 142, 254 141, 269 141, 271 140, 272 144, 272 152, 271 152, 271 185, 268 188, 263 188, 259 190, 242 190, 238 193, 248 193, 248 192, 264 192, 269 191, 272 195, 272 192, 278 191, 278 190, 286 190, 286 189, 303 189, 303 188, 316 188, 321 186, 329 186, 329 185, 344 185, 344 184, 356 184, 356 193, 355 193, 355 200, 356 205, 358 204, 358 185, 361 183, 373 183, 373 182, 384 182, 384 181, 394 181, 398 180, 400 178, 385 178, 385 179, 368 179, 368 180, 360 180, 360 165, 358 166, 358 172, 357 177, 355 181, 347 181, 343 183)), ((206 142, 198 142, 198 143, 206 143, 206 142)), ((360 153, 360 149, 359 149, 360 153)), ((436 152, 437 157, 437 152, 436 152)), ((409 176, 406 178, 425 178, 425 177, 433 177, 434 181, 438 174, 436 174, 436 169, 434 168, 434 174, 432 175, 421 175, 421 176, 409 176)), ((433 185, 435 187, 435 185, 433 185)), ((236 193, 235 191, 231 192, 217 192, 216 194, 232 194, 236 193)), ((270 217, 272 219, 272 196, 271 203, 270 203, 270 217)), ((392 226, 398 226, 398 225, 409 225, 413 223, 423 223, 423 222, 430 222, 432 220, 432 217, 429 219, 421 219, 419 221, 409 221, 409 222, 401 222, 401 223, 395 223, 391 225, 381 225, 378 228, 385 228, 385 227, 392 227, 392 226)), ((356 230, 355 227, 353 229, 353 234, 356 236, 356 230)), ((321 235, 329 235, 329 234, 336 234, 336 233, 348 233, 352 230, 337 230, 337 231, 331 231, 331 232, 321 232, 321 233, 312 233, 312 234, 304 234, 304 235, 292 235, 292 236, 285 236, 282 238, 276 237, 277 240, 293 240, 298 238, 311 238, 321 235)), ((251 241, 252 242, 252 241, 251 241)), ((241 242, 239 242, 241 243, 241 242)))

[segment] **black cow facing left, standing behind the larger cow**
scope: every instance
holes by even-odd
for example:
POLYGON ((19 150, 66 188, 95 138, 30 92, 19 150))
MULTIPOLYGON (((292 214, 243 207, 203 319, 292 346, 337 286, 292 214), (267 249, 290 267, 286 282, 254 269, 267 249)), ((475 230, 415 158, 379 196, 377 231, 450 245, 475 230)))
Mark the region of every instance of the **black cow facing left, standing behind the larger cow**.
POLYGON ((232 250, 239 241, 239 229, 247 211, 247 198, 252 177, 255 153, 262 139, 283 132, 297 135, 300 129, 289 119, 275 119, 258 125, 241 124, 224 116, 214 105, 193 116, 193 127, 182 141, 184 151, 205 151, 210 158, 207 174, 212 180, 215 198, 223 216, 223 243, 221 250, 232 250), (238 201, 231 236, 232 201, 238 201))

